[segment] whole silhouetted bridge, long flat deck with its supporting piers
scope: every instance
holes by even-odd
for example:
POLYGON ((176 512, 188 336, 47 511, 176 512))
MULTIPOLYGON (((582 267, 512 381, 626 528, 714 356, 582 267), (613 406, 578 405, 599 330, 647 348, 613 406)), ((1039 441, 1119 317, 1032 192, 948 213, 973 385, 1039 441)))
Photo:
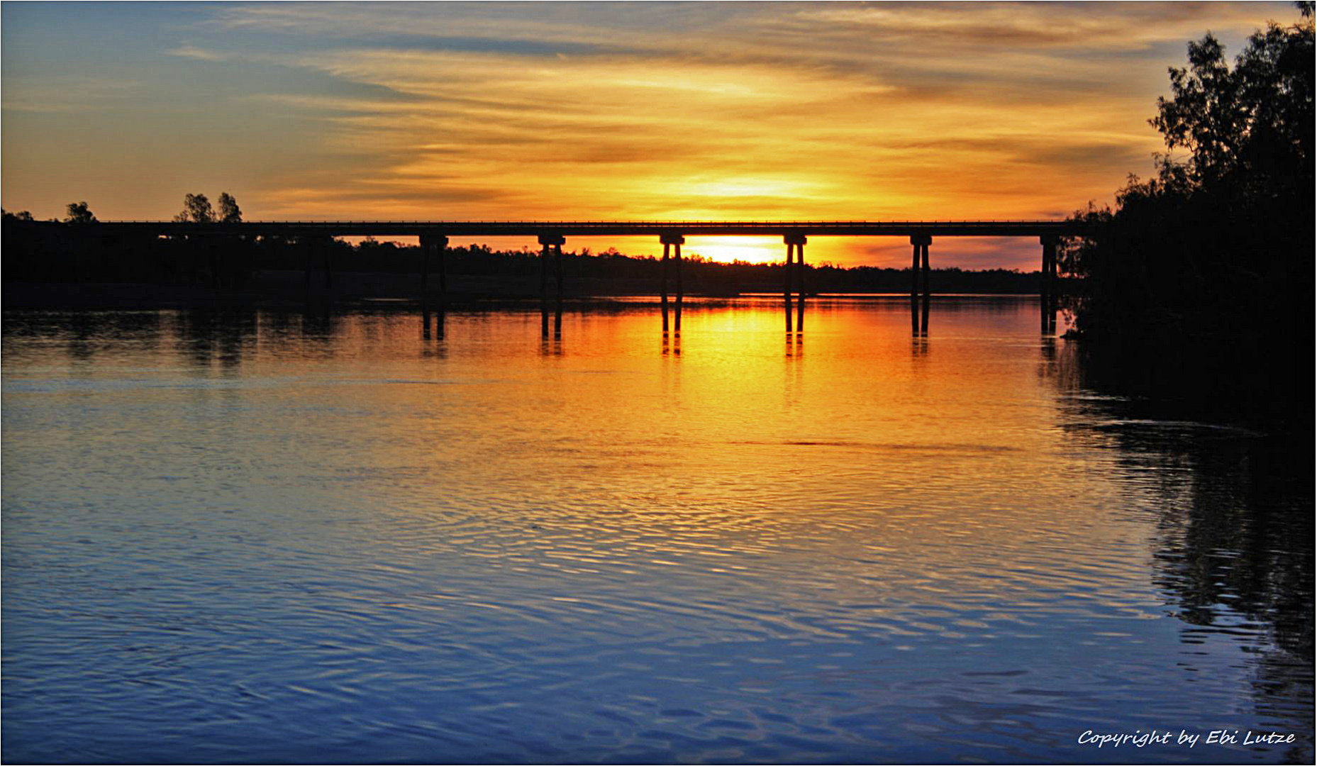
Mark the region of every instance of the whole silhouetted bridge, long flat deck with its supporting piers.
MULTIPOLYGON (((421 294, 428 291, 431 262, 437 261, 440 294, 445 292, 444 250, 449 237, 536 237, 543 247, 540 270, 540 299, 548 321, 548 276, 551 259, 556 263, 557 299, 562 300, 562 245, 568 237, 652 236, 664 246, 661 305, 662 326, 668 329, 669 262, 676 279, 676 330, 681 332, 681 246, 686 236, 781 236, 786 245, 782 270, 782 297, 786 303, 786 329, 792 329, 792 308, 795 304, 795 325, 805 324, 805 245, 810 236, 818 237, 909 237, 913 246, 910 262, 911 307, 918 301, 921 287, 923 311, 927 317, 931 288, 928 284, 928 247, 934 237, 1038 237, 1042 245, 1042 279, 1039 294, 1043 307, 1044 329, 1055 326, 1056 316, 1056 245, 1062 237, 1076 234, 1073 224, 1056 220, 1033 221, 242 221, 242 222, 179 222, 179 221, 100 221, 87 224, 88 233, 108 237, 186 237, 205 242, 234 236, 279 236, 306 241, 307 287, 316 251, 333 237, 419 237, 421 259, 421 294), (921 283, 922 280, 922 283, 921 283), (793 294, 795 299, 793 301, 793 294)), ((328 258, 325 283, 332 280, 328 258)), ((925 320, 927 324, 927 320, 925 320)))

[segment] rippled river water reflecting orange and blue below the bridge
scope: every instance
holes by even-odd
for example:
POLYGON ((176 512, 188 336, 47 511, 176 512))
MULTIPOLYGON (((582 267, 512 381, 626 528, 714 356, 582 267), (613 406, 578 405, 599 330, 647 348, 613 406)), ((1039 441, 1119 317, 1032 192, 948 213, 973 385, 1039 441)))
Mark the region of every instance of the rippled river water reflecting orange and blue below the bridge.
POLYGON ((3 755, 1310 762, 1310 463, 1036 311, 7 312, 3 755))

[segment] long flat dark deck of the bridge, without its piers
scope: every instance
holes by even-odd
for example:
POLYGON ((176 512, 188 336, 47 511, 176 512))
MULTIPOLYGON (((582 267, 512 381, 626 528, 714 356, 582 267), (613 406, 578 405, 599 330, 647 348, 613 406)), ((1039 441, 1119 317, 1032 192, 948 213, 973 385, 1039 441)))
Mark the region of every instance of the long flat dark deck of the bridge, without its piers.
POLYGON ((535 237, 560 234, 815 234, 839 237, 1043 237, 1071 233, 1067 221, 244 221, 241 224, 180 224, 176 221, 101 221, 99 230, 116 234, 323 234, 535 237))

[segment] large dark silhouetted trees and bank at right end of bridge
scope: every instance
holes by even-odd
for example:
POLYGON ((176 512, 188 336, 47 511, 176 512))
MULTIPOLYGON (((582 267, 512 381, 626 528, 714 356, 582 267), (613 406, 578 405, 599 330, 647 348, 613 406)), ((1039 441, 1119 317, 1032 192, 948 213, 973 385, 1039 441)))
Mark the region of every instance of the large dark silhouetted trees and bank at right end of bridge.
POLYGON ((1079 337, 1113 376, 1229 417, 1312 428, 1313 3, 1231 66, 1210 33, 1148 122, 1167 153, 1060 253, 1079 337))

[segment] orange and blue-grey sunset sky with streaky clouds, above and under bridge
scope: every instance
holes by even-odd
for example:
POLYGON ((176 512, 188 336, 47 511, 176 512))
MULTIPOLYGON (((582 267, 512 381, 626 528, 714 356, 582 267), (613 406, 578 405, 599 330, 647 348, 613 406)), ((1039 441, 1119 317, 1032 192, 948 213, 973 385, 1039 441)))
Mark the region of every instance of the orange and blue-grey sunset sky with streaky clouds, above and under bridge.
MULTIPOLYGON (((1167 67, 1258 4, 3 5, 3 204, 167 218, 1063 217, 1162 150, 1167 67)), ((520 246, 523 242, 491 241, 520 246)), ((524 242, 533 246, 533 242, 524 242)), ((572 241, 633 254, 649 240, 572 241)), ((781 258, 753 240, 687 250, 781 258)), ((1038 267, 1026 241, 934 266, 1038 267)), ((811 262, 902 266, 897 238, 811 262)))

